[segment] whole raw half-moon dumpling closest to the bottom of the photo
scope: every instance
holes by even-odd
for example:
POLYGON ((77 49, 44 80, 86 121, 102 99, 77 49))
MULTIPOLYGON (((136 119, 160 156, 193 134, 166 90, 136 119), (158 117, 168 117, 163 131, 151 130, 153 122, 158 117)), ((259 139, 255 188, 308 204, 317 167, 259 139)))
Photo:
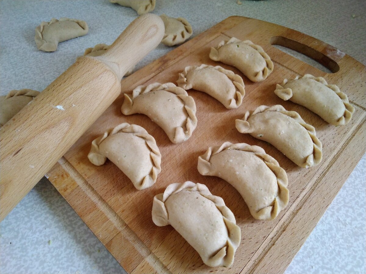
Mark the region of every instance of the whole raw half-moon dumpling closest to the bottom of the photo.
POLYGON ((240 244, 240 228, 224 200, 204 184, 170 184, 154 197, 152 218, 159 227, 171 225, 208 266, 229 267, 240 244))

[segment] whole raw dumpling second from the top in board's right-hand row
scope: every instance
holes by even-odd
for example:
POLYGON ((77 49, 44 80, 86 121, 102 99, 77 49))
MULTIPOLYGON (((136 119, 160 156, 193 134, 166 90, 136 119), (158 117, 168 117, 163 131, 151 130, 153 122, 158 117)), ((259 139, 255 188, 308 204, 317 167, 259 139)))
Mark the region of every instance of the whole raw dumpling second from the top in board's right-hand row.
POLYGON ((299 167, 312 167, 322 159, 322 144, 314 127, 281 105, 247 111, 242 119, 235 120, 235 126, 241 133, 269 142, 299 167))

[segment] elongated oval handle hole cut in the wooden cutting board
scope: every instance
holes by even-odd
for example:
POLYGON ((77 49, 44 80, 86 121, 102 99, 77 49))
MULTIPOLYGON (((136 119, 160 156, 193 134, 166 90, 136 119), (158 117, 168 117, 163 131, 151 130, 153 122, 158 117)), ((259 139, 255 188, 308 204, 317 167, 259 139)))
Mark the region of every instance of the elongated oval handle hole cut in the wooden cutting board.
POLYGON ((336 73, 339 71, 339 65, 336 61, 307 45, 282 36, 274 36, 270 38, 269 42, 272 46, 276 47, 276 49, 325 73, 336 73))

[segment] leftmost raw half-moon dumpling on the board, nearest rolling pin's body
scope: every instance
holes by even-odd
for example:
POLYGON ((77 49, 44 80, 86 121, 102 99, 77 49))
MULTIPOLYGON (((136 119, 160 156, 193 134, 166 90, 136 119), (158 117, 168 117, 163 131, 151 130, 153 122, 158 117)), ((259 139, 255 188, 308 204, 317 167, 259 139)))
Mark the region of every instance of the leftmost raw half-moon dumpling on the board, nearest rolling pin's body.
POLYGON ((94 139, 88 158, 95 165, 104 164, 108 158, 138 190, 152 186, 161 171, 161 154, 154 137, 141 126, 128 123, 94 139))

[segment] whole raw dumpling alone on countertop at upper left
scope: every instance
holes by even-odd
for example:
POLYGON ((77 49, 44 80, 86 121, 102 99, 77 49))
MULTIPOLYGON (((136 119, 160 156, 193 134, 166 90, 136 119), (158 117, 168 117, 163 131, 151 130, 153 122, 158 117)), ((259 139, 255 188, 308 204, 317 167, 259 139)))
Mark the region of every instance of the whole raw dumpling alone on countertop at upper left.
POLYGON ((85 21, 70 18, 52 18, 50 22, 42 22, 36 27, 37 48, 44 52, 54 52, 60 42, 70 40, 88 33, 85 21))

